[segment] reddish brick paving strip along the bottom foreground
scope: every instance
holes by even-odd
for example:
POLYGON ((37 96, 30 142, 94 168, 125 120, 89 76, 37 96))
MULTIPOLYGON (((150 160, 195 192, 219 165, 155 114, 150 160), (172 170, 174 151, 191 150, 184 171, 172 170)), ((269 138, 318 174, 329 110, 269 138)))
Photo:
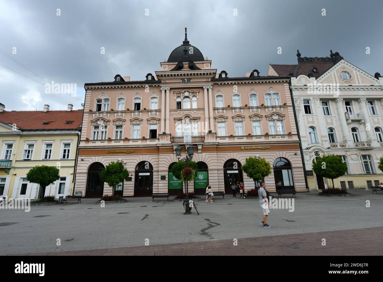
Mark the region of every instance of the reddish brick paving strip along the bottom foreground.
POLYGON ((43 252, 22 256, 185 256, 185 255, 293 255, 372 256, 383 255, 383 226, 373 228, 287 234, 255 238, 188 242, 83 251, 43 252), (326 246, 322 246, 322 238, 326 246))

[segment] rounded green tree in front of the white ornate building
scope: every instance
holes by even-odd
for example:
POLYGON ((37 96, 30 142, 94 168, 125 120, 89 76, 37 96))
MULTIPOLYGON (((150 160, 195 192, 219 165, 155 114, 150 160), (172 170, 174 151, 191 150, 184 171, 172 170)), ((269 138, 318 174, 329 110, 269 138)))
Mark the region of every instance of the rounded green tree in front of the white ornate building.
POLYGON ((334 188, 334 179, 346 174, 347 164, 338 155, 324 155, 318 157, 313 163, 313 171, 317 175, 331 179, 332 188, 334 188))

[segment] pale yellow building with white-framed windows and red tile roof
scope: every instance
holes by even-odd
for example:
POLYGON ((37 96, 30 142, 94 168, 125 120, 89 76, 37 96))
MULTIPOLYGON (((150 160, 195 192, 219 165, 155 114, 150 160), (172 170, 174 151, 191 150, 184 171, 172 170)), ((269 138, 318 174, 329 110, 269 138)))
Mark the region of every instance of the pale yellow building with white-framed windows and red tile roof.
POLYGON ((60 178, 45 195, 72 195, 83 110, 6 111, 0 103, 0 195, 38 198, 43 190, 26 174, 35 166, 55 166, 60 178))

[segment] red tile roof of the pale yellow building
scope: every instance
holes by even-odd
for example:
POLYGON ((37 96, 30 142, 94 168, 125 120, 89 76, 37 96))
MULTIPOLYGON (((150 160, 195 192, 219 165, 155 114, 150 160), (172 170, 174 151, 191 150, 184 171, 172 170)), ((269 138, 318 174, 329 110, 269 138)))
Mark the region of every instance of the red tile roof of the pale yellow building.
POLYGON ((82 124, 83 110, 72 111, 3 111, 0 121, 22 130, 77 130, 82 124), (47 121, 50 123, 44 125, 47 121), (67 121, 73 121, 66 124, 67 121))

